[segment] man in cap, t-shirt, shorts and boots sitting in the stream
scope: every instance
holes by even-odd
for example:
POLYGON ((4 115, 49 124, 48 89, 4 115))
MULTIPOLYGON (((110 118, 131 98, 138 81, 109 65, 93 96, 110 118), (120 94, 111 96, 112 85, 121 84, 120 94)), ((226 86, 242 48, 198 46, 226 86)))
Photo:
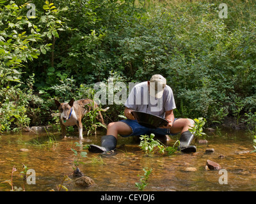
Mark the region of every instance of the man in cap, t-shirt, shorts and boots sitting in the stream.
POLYGON ((175 108, 173 92, 170 86, 166 85, 166 79, 161 75, 153 75, 150 81, 141 82, 132 88, 125 103, 124 115, 127 119, 109 123, 107 134, 101 138, 101 146, 90 145, 88 150, 95 153, 114 150, 118 135, 128 137, 154 133, 165 136, 181 133, 179 149, 184 153, 196 152, 196 147, 189 145, 193 134, 188 130, 195 122, 191 119, 175 119, 175 108), (134 118, 131 113, 134 110, 163 117, 169 123, 161 128, 146 128, 134 118))

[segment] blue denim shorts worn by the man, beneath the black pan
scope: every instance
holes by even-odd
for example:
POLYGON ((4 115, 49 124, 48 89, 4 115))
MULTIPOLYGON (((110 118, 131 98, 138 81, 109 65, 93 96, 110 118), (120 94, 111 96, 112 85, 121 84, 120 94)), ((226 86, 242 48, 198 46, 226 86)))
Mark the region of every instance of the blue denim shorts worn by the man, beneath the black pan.
MULTIPOLYGON (((175 120, 177 120, 177 119, 174 119, 174 121, 175 120)), ((130 128, 132 129, 131 135, 121 135, 122 137, 150 135, 151 133, 153 133, 154 135, 177 135, 177 134, 179 134, 179 133, 175 133, 175 134, 170 133, 169 128, 156 128, 156 129, 146 128, 146 127, 138 124, 137 120, 127 119, 127 120, 120 120, 119 122, 124 122, 125 124, 130 126, 130 128)))

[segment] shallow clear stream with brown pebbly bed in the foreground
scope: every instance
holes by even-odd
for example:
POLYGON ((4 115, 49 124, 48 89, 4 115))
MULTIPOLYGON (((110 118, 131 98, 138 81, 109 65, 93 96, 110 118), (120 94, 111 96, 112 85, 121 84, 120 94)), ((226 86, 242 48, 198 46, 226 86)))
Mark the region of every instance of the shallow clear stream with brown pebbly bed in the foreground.
MULTIPOLYGON (((102 135, 104 132, 84 136, 83 144, 99 145, 102 135)), ((176 139, 172 138, 168 144, 172 145, 176 139)), ((74 180, 65 181, 63 185, 68 191, 138 191, 135 186, 140 181, 138 175, 143 175, 143 168, 152 168, 145 191, 256 191, 256 154, 250 153, 254 149, 252 136, 245 131, 218 131, 207 137, 207 141, 207 145, 196 144, 195 154, 146 156, 138 147, 138 140, 120 137, 117 146, 124 146, 115 156, 100 157, 86 150, 87 157, 79 160, 83 162, 79 164, 80 170, 92 178, 95 185, 83 188, 76 186, 74 180), (205 149, 214 149, 214 152, 205 154, 205 149), (219 170, 205 170, 207 159, 227 170, 227 184, 220 184, 224 174, 219 170)), ((75 142, 78 142, 76 137, 61 139, 60 133, 0 135, 0 191, 10 191, 11 186, 1 182, 11 180, 13 166, 17 168, 13 173, 13 186, 22 187, 19 174, 22 163, 36 173, 35 184, 25 182, 26 191, 57 191, 56 186, 65 175, 72 179, 77 157, 71 149, 79 151, 75 142)))

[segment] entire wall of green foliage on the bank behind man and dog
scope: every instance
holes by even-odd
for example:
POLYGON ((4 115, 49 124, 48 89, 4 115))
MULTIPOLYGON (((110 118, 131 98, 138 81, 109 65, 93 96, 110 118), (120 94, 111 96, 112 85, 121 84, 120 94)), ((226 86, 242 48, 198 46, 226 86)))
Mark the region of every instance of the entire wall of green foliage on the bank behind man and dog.
MULTIPOLYGON (((173 89, 175 117, 239 124, 256 111, 256 4, 225 3, 221 19, 220 3, 209 0, 35 1, 28 18, 26 1, 1 1, 1 131, 51 124, 52 98, 86 98, 113 75, 141 82, 155 73, 173 89)), ((124 106, 110 110, 115 121, 124 106)))

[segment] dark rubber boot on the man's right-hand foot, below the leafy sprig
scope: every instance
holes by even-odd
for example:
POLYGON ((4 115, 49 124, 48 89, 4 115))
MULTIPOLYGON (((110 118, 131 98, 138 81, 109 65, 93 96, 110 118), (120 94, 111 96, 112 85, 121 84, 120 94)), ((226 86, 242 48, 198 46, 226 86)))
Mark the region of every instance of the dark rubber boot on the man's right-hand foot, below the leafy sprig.
POLYGON ((184 153, 196 152, 194 145, 189 145, 193 140, 194 135, 190 131, 185 131, 180 135, 180 147, 179 150, 184 153))

